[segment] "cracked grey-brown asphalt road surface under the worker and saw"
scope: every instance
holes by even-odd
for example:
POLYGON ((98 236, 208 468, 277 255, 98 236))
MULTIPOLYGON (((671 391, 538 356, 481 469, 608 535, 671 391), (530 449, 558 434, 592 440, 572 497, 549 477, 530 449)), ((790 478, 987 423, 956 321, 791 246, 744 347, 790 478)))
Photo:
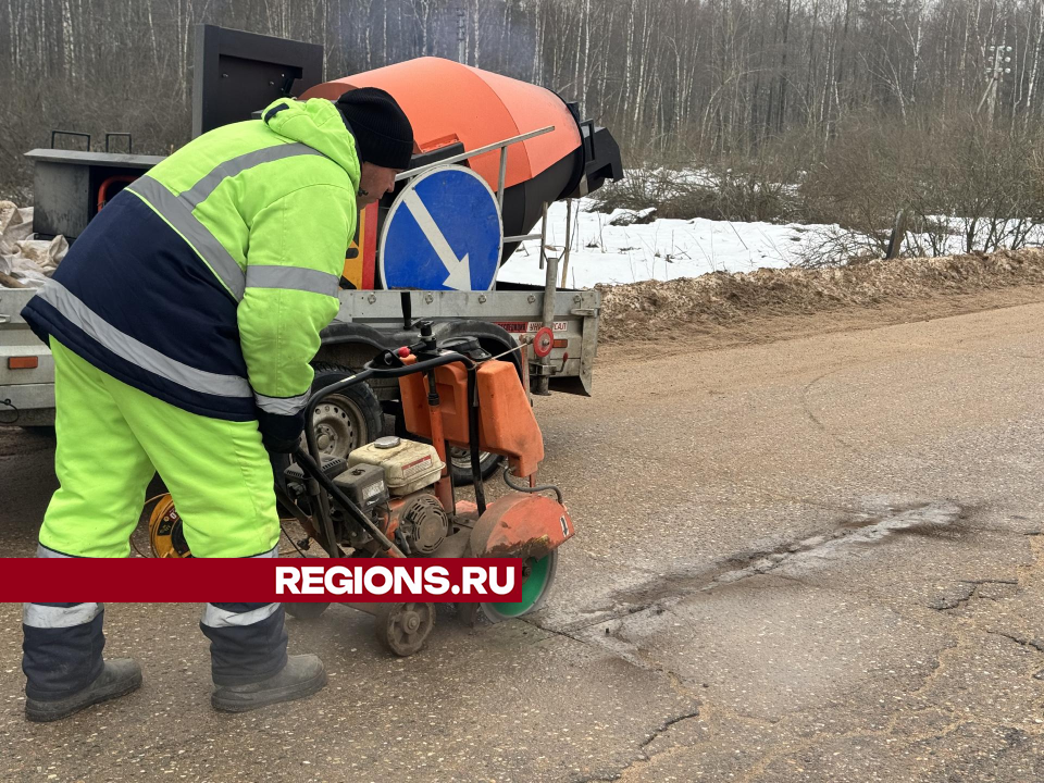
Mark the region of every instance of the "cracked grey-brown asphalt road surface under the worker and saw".
MULTIPOLYGON (((543 612, 440 611, 405 661, 365 616, 289 620, 331 686, 226 717, 198 606, 111 605, 145 686, 39 726, 0 605, 0 779, 1044 780, 1042 338, 1028 304, 602 349, 594 398, 537 402, 579 530, 543 612)), ((33 551, 50 448, 0 435, 8 556, 33 551)))

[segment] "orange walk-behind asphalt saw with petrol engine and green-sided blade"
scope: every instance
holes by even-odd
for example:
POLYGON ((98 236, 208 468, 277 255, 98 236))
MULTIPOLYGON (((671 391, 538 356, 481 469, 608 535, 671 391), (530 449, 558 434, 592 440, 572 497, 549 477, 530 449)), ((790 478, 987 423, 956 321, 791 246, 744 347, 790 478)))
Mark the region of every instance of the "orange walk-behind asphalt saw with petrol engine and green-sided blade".
MULTIPOLYGON (((561 492, 536 483, 544 440, 525 393, 527 378, 476 339, 437 344, 432 326, 430 321, 414 324, 415 345, 385 350, 355 375, 314 391, 304 411, 311 422, 315 407, 331 395, 368 380, 391 378, 412 437, 385 436, 347 459, 323 458, 314 428, 307 426, 306 448, 277 476, 281 515, 296 519, 308 539, 334 558, 519 558, 524 561, 520 601, 461 602, 457 609, 468 622, 477 612, 493 622, 522 617, 547 599, 558 548, 573 536, 573 522, 561 492), (470 453, 474 501, 456 497, 447 465, 450 448, 470 453), (507 458, 502 476, 510 488, 488 504, 480 469, 484 451, 507 458)), ((549 347, 547 335, 538 334, 518 350, 539 357, 549 347)), ((156 557, 191 557, 170 495, 152 508, 149 532, 156 557)), ((328 606, 287 604, 286 610, 309 619, 328 606)), ((433 604, 348 606, 373 614, 377 639, 398 656, 420 650, 435 621, 433 604)))

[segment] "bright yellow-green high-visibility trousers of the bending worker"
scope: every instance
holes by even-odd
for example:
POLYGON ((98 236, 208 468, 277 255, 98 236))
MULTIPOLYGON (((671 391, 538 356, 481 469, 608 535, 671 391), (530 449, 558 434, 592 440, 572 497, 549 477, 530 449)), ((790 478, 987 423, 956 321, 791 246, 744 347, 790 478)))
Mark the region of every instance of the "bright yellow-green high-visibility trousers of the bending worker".
POLYGON ((194 557, 253 557, 278 544, 272 464, 257 422, 175 408, 54 338, 54 469, 61 487, 40 544, 73 557, 126 557, 158 471, 194 557))

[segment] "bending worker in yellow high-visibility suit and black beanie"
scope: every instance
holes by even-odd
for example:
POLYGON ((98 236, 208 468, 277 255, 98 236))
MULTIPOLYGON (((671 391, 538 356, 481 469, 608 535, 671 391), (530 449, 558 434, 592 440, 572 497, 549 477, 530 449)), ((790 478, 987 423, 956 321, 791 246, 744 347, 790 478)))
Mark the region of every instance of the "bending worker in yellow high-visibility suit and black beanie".
MULTIPOLYGON (((309 362, 337 314, 360 206, 409 167, 413 130, 387 92, 275 101, 172 154, 113 198, 23 310, 54 356, 54 493, 39 557, 127 557, 159 472, 195 557, 278 555, 268 452, 304 426, 309 362)), ((141 683, 103 660, 100 604, 28 604, 25 711, 63 718, 141 683)), ((287 657, 282 604, 208 604, 216 709, 326 683, 287 657)))

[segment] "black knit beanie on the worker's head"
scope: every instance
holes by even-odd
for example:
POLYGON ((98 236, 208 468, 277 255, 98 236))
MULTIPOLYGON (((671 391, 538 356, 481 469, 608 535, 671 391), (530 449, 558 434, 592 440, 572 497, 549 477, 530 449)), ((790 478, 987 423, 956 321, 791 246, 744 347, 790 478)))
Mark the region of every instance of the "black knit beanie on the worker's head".
POLYGON ((409 169, 413 126, 395 98, 376 87, 360 87, 337 99, 345 125, 356 137, 359 160, 385 169, 409 169))

